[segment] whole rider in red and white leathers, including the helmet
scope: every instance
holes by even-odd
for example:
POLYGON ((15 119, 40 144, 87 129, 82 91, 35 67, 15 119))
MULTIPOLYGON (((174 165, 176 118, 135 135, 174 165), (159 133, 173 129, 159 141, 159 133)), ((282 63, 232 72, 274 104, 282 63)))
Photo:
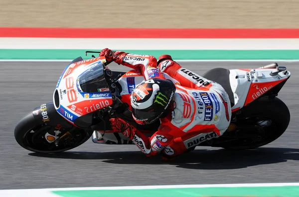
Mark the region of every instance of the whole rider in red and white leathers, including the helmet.
POLYGON ((158 131, 148 137, 120 118, 110 121, 113 131, 122 131, 147 156, 160 152, 163 159, 172 159, 205 140, 219 137, 228 128, 231 103, 224 88, 181 67, 171 56, 162 55, 157 61, 153 56, 108 48, 100 56, 108 63, 139 70, 146 79, 132 92, 132 114, 141 125, 159 120, 158 131))

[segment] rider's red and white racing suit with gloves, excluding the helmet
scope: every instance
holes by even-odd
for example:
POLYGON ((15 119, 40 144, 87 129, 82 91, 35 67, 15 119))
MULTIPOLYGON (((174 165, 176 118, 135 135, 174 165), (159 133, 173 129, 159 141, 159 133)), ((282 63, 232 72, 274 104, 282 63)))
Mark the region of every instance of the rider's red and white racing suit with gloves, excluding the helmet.
POLYGON ((158 131, 151 137, 122 119, 111 119, 113 130, 123 131, 147 156, 160 152, 163 158, 171 158, 227 130, 231 104, 220 84, 181 67, 168 55, 160 56, 157 62, 153 56, 113 52, 106 48, 100 56, 140 71, 146 80, 166 79, 168 75, 175 84, 168 115, 160 118, 158 131))

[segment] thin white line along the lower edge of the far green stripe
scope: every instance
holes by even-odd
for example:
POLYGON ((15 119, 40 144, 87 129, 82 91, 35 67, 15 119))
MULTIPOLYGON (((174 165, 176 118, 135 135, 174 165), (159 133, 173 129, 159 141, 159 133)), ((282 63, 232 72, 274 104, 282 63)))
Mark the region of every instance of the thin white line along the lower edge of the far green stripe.
MULTIPOLYGON (((83 59, 87 60, 87 59, 83 59)), ((0 62, 71 62, 73 60, 0 60, 0 62)), ((175 62, 299 62, 299 60, 174 60, 175 62)))

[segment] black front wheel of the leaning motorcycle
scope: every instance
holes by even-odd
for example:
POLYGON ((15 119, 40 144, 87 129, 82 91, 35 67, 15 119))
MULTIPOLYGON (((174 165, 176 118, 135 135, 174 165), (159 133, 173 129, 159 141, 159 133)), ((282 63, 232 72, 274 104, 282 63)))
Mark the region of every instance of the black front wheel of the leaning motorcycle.
POLYGON ((69 128, 55 128, 36 121, 32 113, 23 117, 14 129, 14 137, 23 148, 39 153, 56 153, 75 148, 92 135, 93 131, 85 131, 70 125, 69 128), (49 133, 57 133, 49 135, 49 133))

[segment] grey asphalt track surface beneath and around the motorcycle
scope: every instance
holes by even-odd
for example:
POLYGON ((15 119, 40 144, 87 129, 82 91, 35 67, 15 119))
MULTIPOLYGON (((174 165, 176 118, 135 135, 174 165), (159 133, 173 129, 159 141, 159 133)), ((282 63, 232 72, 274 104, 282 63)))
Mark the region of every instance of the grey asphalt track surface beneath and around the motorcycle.
MULTIPOLYGON (((272 63, 272 62, 269 62, 272 63)), ((268 62, 185 62, 202 74, 214 67, 256 68, 268 62)), ((299 182, 299 63, 279 63, 291 78, 279 94, 291 112, 287 131, 256 150, 199 148, 164 162, 147 158, 135 145, 95 144, 59 154, 37 154, 20 147, 16 123, 36 106, 51 102, 61 62, 0 63, 0 189, 100 186, 299 182)), ((129 68, 111 65, 112 70, 129 68)))

